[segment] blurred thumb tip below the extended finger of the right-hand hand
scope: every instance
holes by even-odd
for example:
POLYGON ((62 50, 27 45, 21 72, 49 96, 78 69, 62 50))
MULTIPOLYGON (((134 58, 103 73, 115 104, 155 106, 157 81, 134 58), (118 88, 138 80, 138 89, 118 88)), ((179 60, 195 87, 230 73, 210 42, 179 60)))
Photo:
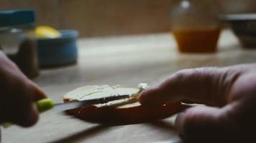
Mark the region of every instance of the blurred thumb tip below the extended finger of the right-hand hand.
POLYGON ((230 142, 236 126, 227 115, 228 109, 192 107, 178 114, 175 126, 185 142, 230 142))

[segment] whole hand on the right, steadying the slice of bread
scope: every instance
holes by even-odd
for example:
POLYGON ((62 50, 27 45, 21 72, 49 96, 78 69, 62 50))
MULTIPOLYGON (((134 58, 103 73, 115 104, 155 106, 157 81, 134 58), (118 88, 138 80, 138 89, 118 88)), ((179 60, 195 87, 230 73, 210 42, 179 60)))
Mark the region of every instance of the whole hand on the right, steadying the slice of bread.
POLYGON ((208 105, 176 118, 185 142, 249 142, 256 128, 256 64, 184 69, 140 96, 148 106, 179 101, 208 105))

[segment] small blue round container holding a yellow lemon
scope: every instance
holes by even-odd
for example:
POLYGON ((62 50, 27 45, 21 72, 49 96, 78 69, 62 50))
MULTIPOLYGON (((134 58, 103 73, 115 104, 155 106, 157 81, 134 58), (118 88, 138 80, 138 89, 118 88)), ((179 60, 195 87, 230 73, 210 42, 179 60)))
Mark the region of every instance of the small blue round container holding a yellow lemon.
POLYGON ((76 63, 78 49, 76 39, 78 31, 60 30, 61 37, 38 39, 37 51, 40 67, 63 66, 76 63))

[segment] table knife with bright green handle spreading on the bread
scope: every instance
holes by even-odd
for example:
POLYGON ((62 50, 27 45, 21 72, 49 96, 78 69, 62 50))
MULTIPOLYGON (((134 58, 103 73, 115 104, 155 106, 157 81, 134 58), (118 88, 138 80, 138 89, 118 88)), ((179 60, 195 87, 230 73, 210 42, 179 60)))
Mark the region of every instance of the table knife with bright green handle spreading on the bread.
MULTIPOLYGON (((46 112, 47 110, 50 109, 55 109, 58 112, 64 112, 65 110, 68 109, 77 109, 79 107, 87 107, 91 106, 93 104, 105 104, 107 102, 111 102, 114 100, 119 100, 119 99, 129 99, 130 97, 133 97, 133 95, 118 95, 118 96, 112 96, 112 97, 104 97, 104 98, 98 98, 98 99, 88 99, 88 100, 83 100, 83 101, 78 101, 78 102, 65 102, 65 103, 54 103, 52 99, 46 98, 46 99, 41 99, 35 104, 37 105, 38 112, 46 112)), ((8 128, 12 126, 12 123, 6 122, 4 124, 1 124, 2 127, 8 128)))

